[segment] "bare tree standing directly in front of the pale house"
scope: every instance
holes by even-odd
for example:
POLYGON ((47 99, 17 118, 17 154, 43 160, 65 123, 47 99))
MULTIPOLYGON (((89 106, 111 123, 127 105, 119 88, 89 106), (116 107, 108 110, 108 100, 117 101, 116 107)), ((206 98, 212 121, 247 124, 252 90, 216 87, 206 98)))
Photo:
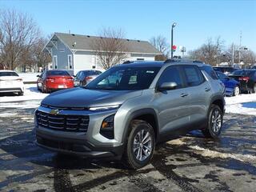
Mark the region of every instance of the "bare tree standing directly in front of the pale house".
POLYGON ((99 36, 91 40, 90 46, 103 69, 107 70, 127 57, 128 46, 122 30, 103 28, 99 36))

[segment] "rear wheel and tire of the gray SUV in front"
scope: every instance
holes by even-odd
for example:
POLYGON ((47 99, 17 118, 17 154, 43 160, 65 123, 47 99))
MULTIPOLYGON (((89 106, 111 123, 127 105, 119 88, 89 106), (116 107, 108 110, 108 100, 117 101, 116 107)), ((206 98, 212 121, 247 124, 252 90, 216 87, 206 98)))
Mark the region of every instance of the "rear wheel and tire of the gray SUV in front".
POLYGON ((218 138, 222 131, 223 114, 219 106, 211 105, 207 127, 202 130, 206 138, 218 138), (215 118, 216 120, 214 120, 215 118))

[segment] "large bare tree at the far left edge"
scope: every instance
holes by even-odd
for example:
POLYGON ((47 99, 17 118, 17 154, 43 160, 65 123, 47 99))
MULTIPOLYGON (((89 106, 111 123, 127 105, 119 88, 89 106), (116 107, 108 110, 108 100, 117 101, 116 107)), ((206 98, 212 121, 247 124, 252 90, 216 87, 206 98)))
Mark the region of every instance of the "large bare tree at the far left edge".
POLYGON ((0 12, 0 65, 14 70, 26 65, 28 55, 40 35, 38 26, 27 14, 15 10, 0 12))

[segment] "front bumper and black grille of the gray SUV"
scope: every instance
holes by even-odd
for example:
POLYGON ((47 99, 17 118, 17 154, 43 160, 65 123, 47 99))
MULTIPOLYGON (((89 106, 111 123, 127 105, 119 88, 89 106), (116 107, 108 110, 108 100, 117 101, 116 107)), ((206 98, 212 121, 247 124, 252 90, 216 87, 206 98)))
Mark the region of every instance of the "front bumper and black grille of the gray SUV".
POLYGON ((106 138, 100 133, 104 119, 116 111, 59 110, 59 114, 51 114, 50 111, 52 109, 40 106, 35 112, 35 132, 38 146, 62 154, 79 155, 85 158, 121 158, 123 144, 114 138, 106 138), (90 118, 87 120, 88 126, 83 127, 85 129, 75 130, 74 122, 77 121, 77 126, 80 126, 79 123, 82 120, 74 119, 83 116, 90 118), (54 122, 62 117, 65 119, 63 126, 61 122, 54 122), (55 125, 61 126, 56 127, 55 125), (72 129, 68 128, 68 125, 73 125, 72 129))

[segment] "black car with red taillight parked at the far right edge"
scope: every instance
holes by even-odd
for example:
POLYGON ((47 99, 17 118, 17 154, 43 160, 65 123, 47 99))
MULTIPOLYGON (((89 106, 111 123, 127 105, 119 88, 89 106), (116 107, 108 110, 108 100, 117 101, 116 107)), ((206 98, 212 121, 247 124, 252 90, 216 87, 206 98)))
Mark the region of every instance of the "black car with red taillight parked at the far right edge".
POLYGON ((236 70, 229 77, 240 82, 241 92, 255 93, 256 70, 236 70))

